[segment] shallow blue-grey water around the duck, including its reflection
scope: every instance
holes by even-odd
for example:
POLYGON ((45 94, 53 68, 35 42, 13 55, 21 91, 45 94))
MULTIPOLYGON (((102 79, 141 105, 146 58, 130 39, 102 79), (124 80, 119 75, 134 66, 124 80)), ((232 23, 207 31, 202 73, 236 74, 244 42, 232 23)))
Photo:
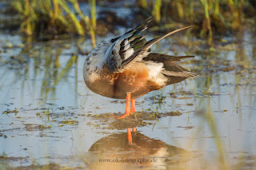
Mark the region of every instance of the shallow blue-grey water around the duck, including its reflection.
MULTIPOLYGON (((90 40, 30 42, 0 34, 0 167, 53 163, 92 169, 106 165, 113 169, 216 169, 218 158, 225 156, 230 166, 242 161, 249 164, 242 167, 253 168, 256 51, 252 36, 245 33, 242 42, 227 43, 228 50, 222 44, 210 52, 191 52, 196 57, 181 65, 198 77, 138 98, 139 112, 182 114, 137 127, 129 144, 125 128, 107 128, 114 119, 90 116, 125 110, 123 100, 99 96, 83 82, 85 56, 77 55, 75 42, 82 42, 82 48, 90 52, 90 40), (157 163, 113 163, 143 158, 157 163), (100 162, 106 159, 112 163, 100 162)), ((153 51, 173 54, 166 44, 181 49, 178 55, 189 50, 166 38, 153 51)))

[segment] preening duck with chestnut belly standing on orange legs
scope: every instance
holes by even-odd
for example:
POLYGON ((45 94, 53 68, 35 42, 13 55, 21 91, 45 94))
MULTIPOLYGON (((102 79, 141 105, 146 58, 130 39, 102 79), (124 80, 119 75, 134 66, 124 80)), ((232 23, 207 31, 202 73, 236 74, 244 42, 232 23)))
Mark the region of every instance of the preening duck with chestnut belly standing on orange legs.
POLYGON ((188 57, 150 53, 150 47, 162 38, 186 30, 187 26, 146 42, 140 35, 150 18, 118 38, 99 43, 86 57, 83 77, 87 87, 104 97, 126 99, 126 113, 135 112, 135 99, 153 90, 194 77, 196 74, 174 63, 188 57), (131 106, 130 106, 131 101, 131 106))

